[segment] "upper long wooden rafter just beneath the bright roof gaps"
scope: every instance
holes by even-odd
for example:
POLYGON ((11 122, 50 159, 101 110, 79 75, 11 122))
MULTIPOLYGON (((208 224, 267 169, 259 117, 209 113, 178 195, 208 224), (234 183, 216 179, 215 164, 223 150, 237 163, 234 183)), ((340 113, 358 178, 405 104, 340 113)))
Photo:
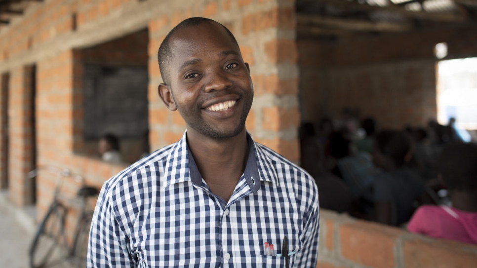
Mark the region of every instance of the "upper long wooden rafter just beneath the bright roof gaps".
POLYGON ((388 6, 377 6, 377 5, 369 5, 365 3, 360 4, 356 1, 348 1, 348 0, 310 0, 310 2, 334 5, 345 10, 390 11, 390 12, 401 14, 406 17, 423 19, 423 20, 433 20, 433 21, 442 21, 442 22, 462 22, 467 19, 467 15, 461 12, 444 13, 444 12, 410 11, 410 10, 406 10, 402 6, 397 6, 394 4, 388 5, 388 6))

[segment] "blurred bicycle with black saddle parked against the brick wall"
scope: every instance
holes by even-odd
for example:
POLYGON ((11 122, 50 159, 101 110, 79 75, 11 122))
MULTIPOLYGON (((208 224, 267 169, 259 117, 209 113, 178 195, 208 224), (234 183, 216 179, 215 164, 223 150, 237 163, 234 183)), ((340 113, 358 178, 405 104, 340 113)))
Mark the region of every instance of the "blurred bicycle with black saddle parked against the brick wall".
POLYGON ((51 166, 40 167, 28 173, 35 178, 39 171, 46 170, 57 176, 53 201, 34 236, 29 251, 31 268, 60 267, 62 264, 86 267, 89 228, 93 211, 88 206, 88 198, 98 194, 98 189, 87 186, 83 177, 72 174, 68 169, 51 166), (61 188, 65 178, 73 179, 81 185, 75 197, 62 195, 61 188), (72 243, 67 242, 65 230, 68 209, 77 207, 79 218, 75 226, 72 243))

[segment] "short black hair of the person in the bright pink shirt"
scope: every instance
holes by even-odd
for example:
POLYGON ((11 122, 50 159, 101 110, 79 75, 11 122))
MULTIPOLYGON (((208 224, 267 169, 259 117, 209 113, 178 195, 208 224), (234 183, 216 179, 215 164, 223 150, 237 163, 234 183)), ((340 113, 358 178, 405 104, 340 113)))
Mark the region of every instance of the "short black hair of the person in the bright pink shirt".
POLYGON ((477 144, 453 142, 439 157, 439 173, 449 190, 477 189, 477 144))

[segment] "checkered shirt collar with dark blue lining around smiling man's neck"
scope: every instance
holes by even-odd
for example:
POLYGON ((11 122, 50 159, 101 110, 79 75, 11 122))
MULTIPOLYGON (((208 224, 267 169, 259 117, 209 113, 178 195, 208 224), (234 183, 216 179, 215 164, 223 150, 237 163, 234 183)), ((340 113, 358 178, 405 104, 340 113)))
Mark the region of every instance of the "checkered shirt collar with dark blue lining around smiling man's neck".
MULTIPOLYGON (((165 173, 168 173, 164 187, 169 185, 190 181, 198 186, 202 184, 202 176, 197 168, 196 162, 186 140, 187 130, 182 138, 172 145, 166 159, 165 173)), ((253 141, 250 133, 247 132, 247 143, 249 155, 243 175, 252 192, 257 192, 261 185, 260 181, 273 182, 278 184, 278 177, 275 169, 272 168, 272 161, 265 157, 263 149, 258 147, 253 141), (258 179, 258 180, 257 180, 258 179)))

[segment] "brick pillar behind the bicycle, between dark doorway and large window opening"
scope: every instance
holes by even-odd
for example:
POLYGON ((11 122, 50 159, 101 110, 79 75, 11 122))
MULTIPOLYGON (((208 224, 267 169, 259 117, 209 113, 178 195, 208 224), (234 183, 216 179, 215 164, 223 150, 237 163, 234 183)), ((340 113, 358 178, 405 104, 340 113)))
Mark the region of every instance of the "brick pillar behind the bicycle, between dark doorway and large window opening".
MULTIPOLYGON (((36 109, 39 165, 71 169, 78 164, 73 152, 75 135, 81 137, 82 134, 75 132, 82 129, 82 94, 80 78, 74 79, 75 55, 73 50, 61 51, 38 62, 36 109)), ((82 137, 78 141, 81 142, 82 137)), ((55 176, 40 173, 37 180, 37 208, 41 215, 53 196, 55 176)), ((62 191, 67 191, 69 184, 72 181, 66 180, 62 191)))

